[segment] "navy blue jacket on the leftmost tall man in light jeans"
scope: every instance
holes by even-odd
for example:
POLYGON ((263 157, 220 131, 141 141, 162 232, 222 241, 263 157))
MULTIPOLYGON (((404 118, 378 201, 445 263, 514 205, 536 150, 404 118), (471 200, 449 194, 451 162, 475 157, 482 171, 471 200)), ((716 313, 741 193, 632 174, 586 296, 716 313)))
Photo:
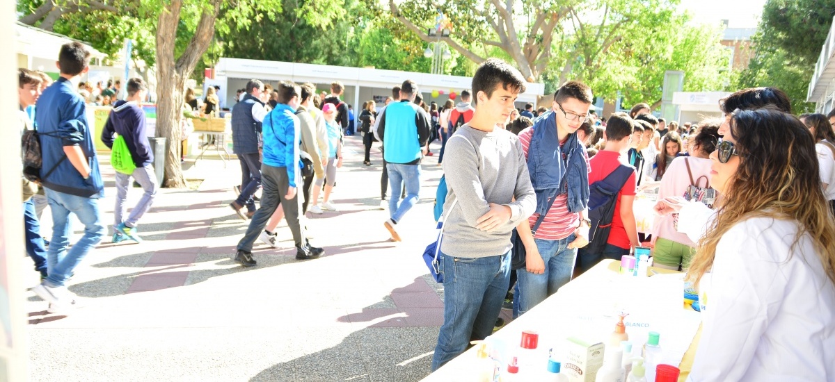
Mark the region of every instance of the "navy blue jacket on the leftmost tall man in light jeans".
POLYGON ((87 122, 87 106, 75 91, 73 83, 58 78, 43 91, 36 105, 35 122, 40 133, 43 167, 41 177, 58 165, 49 177, 43 179, 43 187, 64 194, 84 198, 104 196, 104 182, 99 172, 99 160, 87 122), (63 153, 64 146, 79 146, 87 158, 90 176, 81 177, 63 153))

